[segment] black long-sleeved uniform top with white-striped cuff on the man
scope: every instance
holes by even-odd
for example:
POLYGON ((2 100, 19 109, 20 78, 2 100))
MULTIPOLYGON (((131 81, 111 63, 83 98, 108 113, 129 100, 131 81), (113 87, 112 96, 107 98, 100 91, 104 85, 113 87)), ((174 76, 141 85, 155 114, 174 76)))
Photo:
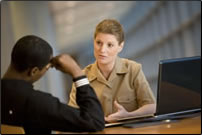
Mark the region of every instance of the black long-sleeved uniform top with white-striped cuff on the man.
POLYGON ((94 90, 84 76, 74 81, 80 109, 61 103, 51 94, 34 90, 29 82, 2 79, 2 124, 24 127, 26 134, 102 130, 104 113, 94 90))

